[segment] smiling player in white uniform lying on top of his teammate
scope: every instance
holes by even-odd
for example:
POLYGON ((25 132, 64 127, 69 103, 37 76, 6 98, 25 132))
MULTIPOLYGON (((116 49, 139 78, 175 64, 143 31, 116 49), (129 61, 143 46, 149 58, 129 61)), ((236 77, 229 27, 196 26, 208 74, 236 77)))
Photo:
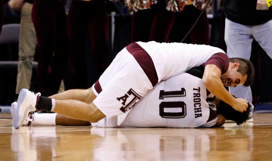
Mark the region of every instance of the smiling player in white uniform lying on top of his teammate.
POLYGON ((89 122, 116 116, 117 125, 121 125, 135 104, 158 82, 200 65, 205 67, 202 81, 208 91, 235 110, 246 111, 247 101, 231 96, 224 85, 252 84, 254 67, 250 61, 229 59, 223 50, 208 45, 152 41, 132 43, 121 50, 87 90, 69 90, 48 98, 23 89, 13 111, 13 126, 20 128, 28 113, 35 110, 89 122))

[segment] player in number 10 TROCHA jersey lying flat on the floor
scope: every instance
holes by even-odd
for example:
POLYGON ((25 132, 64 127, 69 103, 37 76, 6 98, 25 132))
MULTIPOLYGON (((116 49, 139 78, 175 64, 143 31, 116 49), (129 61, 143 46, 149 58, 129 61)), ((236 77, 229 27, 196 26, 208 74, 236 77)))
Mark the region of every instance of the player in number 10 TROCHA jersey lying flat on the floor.
MULTIPOLYGON (((189 128, 221 126, 224 124, 224 117, 238 125, 243 123, 248 118, 249 108, 241 113, 218 99, 210 102, 209 98, 210 101, 206 101, 209 91, 201 80, 203 72, 204 67, 195 67, 186 73, 161 81, 143 96, 120 126, 117 125, 116 117, 105 117, 97 123, 90 123, 56 113, 30 115, 23 125, 189 128), (218 116, 219 120, 218 113, 223 116, 218 116)), ((12 109, 16 108, 17 103, 14 102, 12 106, 12 109)))

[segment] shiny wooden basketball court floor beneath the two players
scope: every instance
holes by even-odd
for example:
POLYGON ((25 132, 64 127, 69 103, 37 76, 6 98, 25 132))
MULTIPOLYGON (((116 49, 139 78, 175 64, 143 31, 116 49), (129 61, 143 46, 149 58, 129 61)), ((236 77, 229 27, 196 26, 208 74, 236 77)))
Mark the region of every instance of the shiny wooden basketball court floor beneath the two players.
POLYGON ((205 129, 31 127, 0 114, 0 160, 272 160, 272 114, 205 129))

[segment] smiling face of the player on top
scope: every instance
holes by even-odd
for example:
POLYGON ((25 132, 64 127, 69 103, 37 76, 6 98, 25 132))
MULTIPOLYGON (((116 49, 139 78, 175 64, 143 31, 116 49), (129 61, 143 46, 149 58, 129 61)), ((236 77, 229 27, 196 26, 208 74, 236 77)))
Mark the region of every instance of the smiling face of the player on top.
POLYGON ((221 75, 221 81, 224 86, 236 87, 243 85, 247 80, 247 75, 242 75, 237 72, 238 68, 231 68, 226 73, 221 75))

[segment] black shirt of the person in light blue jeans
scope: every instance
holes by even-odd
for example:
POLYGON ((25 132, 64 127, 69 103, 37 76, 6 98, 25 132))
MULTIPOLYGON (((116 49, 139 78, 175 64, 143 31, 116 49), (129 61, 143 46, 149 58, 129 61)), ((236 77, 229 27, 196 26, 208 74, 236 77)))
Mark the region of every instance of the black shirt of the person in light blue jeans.
POLYGON ((243 25, 260 25, 272 19, 272 6, 268 10, 257 10, 257 0, 224 0, 226 18, 243 25))

